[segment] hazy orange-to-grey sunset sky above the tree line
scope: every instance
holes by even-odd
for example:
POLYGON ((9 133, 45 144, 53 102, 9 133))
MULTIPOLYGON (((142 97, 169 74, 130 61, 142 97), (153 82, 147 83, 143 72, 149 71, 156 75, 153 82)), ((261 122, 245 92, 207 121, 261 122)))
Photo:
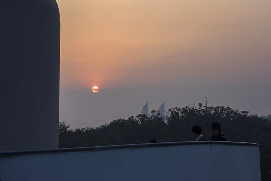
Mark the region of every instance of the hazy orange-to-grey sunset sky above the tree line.
POLYGON ((147 101, 151 111, 205 96, 271 114, 271 1, 57 2, 60 121, 73 128, 137 114, 147 101))

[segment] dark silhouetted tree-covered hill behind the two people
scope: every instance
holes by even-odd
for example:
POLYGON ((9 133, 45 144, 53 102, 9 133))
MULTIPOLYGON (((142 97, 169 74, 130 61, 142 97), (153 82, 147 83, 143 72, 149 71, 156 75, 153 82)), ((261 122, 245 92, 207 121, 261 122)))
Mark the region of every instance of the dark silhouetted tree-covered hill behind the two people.
POLYGON ((65 122, 59 125, 59 148, 104 146, 157 142, 194 141, 191 135, 193 125, 201 125, 203 135, 210 136, 213 122, 221 124, 227 141, 258 143, 261 157, 262 180, 271 180, 271 123, 268 120, 249 115, 248 111, 233 110, 230 107, 203 107, 201 103, 183 108, 171 108, 165 119, 158 111, 150 115, 131 116, 128 119, 113 120, 100 127, 70 130, 65 122))

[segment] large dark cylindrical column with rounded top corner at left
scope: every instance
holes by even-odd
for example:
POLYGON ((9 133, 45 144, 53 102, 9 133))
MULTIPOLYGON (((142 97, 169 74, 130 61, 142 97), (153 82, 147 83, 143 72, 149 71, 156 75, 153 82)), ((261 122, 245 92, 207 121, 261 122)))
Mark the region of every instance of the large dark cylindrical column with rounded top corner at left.
POLYGON ((55 0, 0 1, 0 151, 58 148, 55 0))

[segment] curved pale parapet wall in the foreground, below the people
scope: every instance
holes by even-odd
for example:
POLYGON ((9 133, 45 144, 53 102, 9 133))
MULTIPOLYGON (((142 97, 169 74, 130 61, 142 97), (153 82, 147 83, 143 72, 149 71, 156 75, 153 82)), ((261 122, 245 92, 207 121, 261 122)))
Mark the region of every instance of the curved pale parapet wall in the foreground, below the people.
POLYGON ((260 181, 259 147, 235 144, 144 144, 0 153, 5 180, 260 181))

